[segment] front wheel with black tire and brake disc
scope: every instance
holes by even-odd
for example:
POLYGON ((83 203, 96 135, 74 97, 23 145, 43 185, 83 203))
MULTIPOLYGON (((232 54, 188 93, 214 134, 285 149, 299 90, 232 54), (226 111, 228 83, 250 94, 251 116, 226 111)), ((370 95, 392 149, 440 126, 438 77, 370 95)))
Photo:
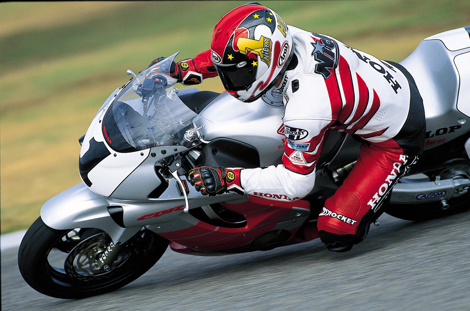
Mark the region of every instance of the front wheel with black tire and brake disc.
POLYGON ((141 230, 118 250, 119 257, 109 271, 101 269, 97 272, 91 262, 98 256, 98 249, 105 249, 105 245, 110 242, 109 235, 102 230, 56 230, 48 227, 39 217, 20 244, 20 273, 32 288, 47 296, 80 299, 101 295, 114 291, 147 272, 162 257, 169 243, 149 230, 141 230), (77 231, 82 233, 76 237, 78 243, 70 243, 68 236, 77 231), (89 265, 74 261, 74 257, 86 259, 84 255, 90 255, 92 251, 96 256, 88 260, 89 265), (62 257, 66 259, 57 259, 62 257), (54 263, 57 260, 59 265, 54 263), (63 265, 60 264, 61 261, 63 265))

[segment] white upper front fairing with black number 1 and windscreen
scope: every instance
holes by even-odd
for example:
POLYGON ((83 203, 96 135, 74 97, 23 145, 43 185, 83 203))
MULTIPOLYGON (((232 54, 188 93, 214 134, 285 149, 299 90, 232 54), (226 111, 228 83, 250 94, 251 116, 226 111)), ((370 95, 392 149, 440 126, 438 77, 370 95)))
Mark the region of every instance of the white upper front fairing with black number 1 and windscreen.
MULTIPOLYGON (((154 168, 158 161, 200 143, 199 129, 210 122, 198 118, 196 127, 197 114, 178 97, 176 81, 167 75, 169 66, 165 68, 174 56, 134 77, 94 117, 79 160, 80 176, 90 190, 110 197, 133 174, 140 174, 132 179, 145 184, 144 189, 156 189, 162 183, 154 168), (161 146, 168 148, 152 152, 161 146), (155 165, 149 166, 148 158, 155 165), (144 162, 149 169, 137 170, 144 162)), ((134 186, 141 191, 139 184, 134 186)))

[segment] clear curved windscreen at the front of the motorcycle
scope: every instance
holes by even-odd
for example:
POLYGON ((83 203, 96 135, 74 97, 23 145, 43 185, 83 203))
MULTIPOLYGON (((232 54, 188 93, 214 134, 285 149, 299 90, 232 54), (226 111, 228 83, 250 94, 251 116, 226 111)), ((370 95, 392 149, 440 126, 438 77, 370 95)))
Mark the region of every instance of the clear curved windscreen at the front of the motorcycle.
POLYGON ((133 152, 199 143, 204 120, 198 118, 198 127, 193 125, 197 114, 178 97, 176 81, 169 76, 171 62, 168 58, 142 71, 114 99, 102 122, 103 136, 112 149, 133 152))

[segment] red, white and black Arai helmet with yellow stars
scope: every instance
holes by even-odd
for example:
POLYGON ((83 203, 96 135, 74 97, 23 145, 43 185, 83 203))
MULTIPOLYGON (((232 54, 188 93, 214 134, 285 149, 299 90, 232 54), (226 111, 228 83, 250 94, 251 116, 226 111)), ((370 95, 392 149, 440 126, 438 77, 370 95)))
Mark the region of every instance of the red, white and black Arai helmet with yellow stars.
POLYGON ((234 8, 217 23, 211 59, 230 95, 251 102, 271 89, 292 57, 286 23, 259 3, 234 8))

